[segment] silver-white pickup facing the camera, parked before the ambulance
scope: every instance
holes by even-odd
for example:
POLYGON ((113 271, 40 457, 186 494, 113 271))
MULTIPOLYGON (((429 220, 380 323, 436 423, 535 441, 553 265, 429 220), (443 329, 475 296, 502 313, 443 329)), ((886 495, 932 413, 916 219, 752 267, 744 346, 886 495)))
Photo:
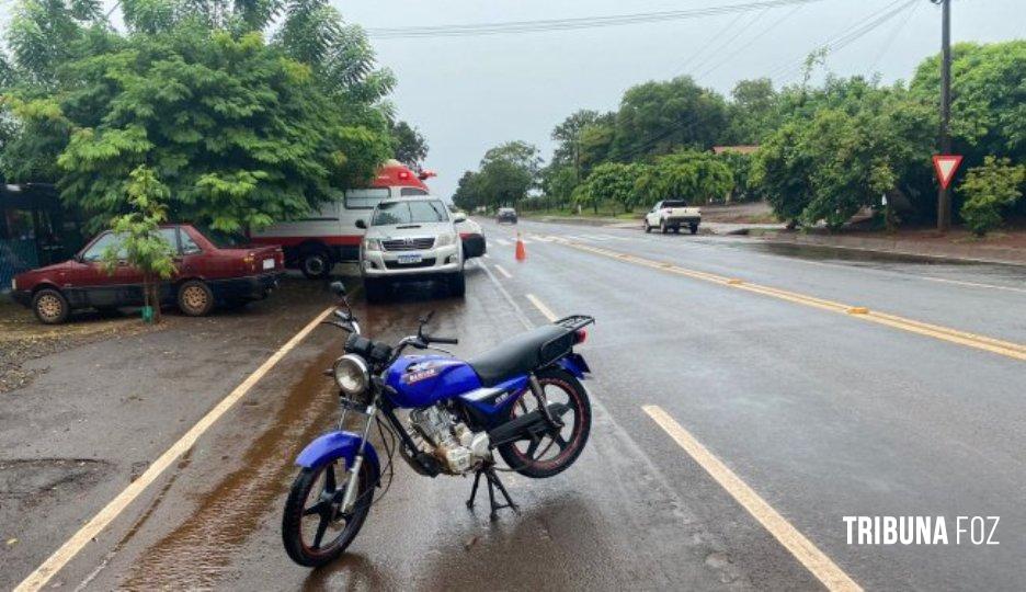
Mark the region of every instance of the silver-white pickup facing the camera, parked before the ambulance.
POLYGON ((436 197, 403 197, 378 203, 360 243, 360 272, 367 301, 385 299, 394 283, 442 282, 453 296, 466 292, 463 243, 451 215, 436 197))

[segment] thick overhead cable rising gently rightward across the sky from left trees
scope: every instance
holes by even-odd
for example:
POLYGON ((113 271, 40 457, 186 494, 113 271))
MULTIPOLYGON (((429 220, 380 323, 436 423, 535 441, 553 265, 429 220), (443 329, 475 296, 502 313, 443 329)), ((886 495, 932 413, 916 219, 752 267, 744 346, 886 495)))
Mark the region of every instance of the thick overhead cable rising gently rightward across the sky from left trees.
POLYGON ((376 39, 418 38, 418 37, 464 37, 495 34, 521 34, 549 31, 574 31, 581 29, 596 29, 606 26, 623 26, 652 22, 681 21, 715 16, 719 14, 734 14, 779 7, 809 4, 824 0, 764 0, 761 2, 744 2, 726 7, 708 7, 692 10, 672 10, 661 12, 638 12, 631 14, 617 14, 612 16, 586 16, 575 19, 551 19, 536 21, 511 21, 472 24, 445 24, 434 26, 402 26, 367 29, 367 34, 376 39))

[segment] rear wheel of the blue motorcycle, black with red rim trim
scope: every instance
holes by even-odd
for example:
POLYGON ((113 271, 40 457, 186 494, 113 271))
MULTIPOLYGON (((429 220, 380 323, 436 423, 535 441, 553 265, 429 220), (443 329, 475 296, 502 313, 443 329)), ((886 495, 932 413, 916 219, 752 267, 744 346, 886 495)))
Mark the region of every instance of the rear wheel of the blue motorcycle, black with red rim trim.
MULTIPOLYGON (((554 402, 566 402, 570 406, 570 411, 562 415, 562 420, 566 424, 560 431, 565 445, 555 443, 549 446, 549 443, 552 442, 552 437, 551 435, 546 435, 537 442, 525 439, 503 444, 498 446, 498 449, 499 455, 502 456, 506 465, 516 470, 516 473, 533 479, 544 479, 567 470, 581 455, 581 452, 584 449, 584 444, 588 443, 588 434, 591 432, 591 401, 588 399, 588 391, 584 390, 584 386, 581 385, 580 380, 563 369, 548 368, 539 372, 537 376, 550 406, 554 402), (566 394, 567 401, 554 400, 551 395, 556 394, 557 390, 561 390, 566 394), (571 415, 572 424, 571 420, 568 420, 571 415), (562 434, 568 433, 568 430, 570 436, 569 441, 566 440, 566 436, 562 436, 562 434), (522 451, 518 447, 524 445, 524 443, 527 443, 526 451, 522 451), (533 447, 534 454, 540 452, 546 458, 539 460, 535 457, 532 454, 533 447), (548 449, 546 449, 547 447, 548 449), (552 452, 556 452, 556 455, 551 458, 547 458, 552 452)), ((537 405, 534 402, 534 396, 531 392, 524 394, 521 401, 513 405, 510 411, 511 419, 517 417, 522 412, 527 412, 527 409, 523 407, 527 400, 537 405)))

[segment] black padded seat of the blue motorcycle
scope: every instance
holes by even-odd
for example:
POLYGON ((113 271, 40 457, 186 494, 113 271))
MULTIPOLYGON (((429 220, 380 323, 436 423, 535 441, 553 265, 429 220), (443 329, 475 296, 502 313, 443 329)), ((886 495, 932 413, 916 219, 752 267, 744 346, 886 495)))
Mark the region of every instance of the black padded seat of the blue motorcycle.
POLYGON ((481 385, 492 387, 551 364, 573 346, 573 332, 544 325, 503 341, 467 361, 481 385))

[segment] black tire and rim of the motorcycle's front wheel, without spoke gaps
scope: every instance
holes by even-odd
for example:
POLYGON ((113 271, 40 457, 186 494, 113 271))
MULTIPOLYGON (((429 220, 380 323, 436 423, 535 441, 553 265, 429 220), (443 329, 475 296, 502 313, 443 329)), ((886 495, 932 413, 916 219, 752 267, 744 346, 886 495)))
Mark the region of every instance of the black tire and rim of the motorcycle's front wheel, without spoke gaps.
POLYGON ((282 514, 282 543, 285 544, 285 553, 288 554, 288 557, 300 566, 321 567, 338 559, 340 555, 345 553, 356 535, 360 534, 360 528, 371 511, 376 483, 373 482, 371 463, 364 462, 360 469, 360 489, 357 490, 356 503, 352 513, 347 519, 339 517, 333 520, 333 514, 338 511, 338 508, 327 503, 326 498, 331 497, 328 494, 329 491, 333 492, 344 485, 335 480, 334 475, 337 471, 341 475, 347 475, 342 468, 342 463, 332 462, 321 467, 304 468, 296 476, 296 480, 293 481, 288 499, 285 500, 285 512, 282 514), (331 471, 332 481, 334 481, 335 486, 333 488, 328 487, 328 471, 331 471), (307 505, 311 489, 321 481, 321 475, 324 475, 326 479, 323 488, 317 492, 319 501, 316 504, 307 505), (318 506, 321 506, 320 511, 310 512, 318 506), (304 517, 316 520, 318 523, 311 540, 314 545, 307 545, 305 540, 303 533, 304 517), (323 538, 321 540, 317 539, 318 532, 323 537, 328 533, 328 526, 340 520, 345 520, 345 523, 338 536, 327 545, 323 544, 323 538))

